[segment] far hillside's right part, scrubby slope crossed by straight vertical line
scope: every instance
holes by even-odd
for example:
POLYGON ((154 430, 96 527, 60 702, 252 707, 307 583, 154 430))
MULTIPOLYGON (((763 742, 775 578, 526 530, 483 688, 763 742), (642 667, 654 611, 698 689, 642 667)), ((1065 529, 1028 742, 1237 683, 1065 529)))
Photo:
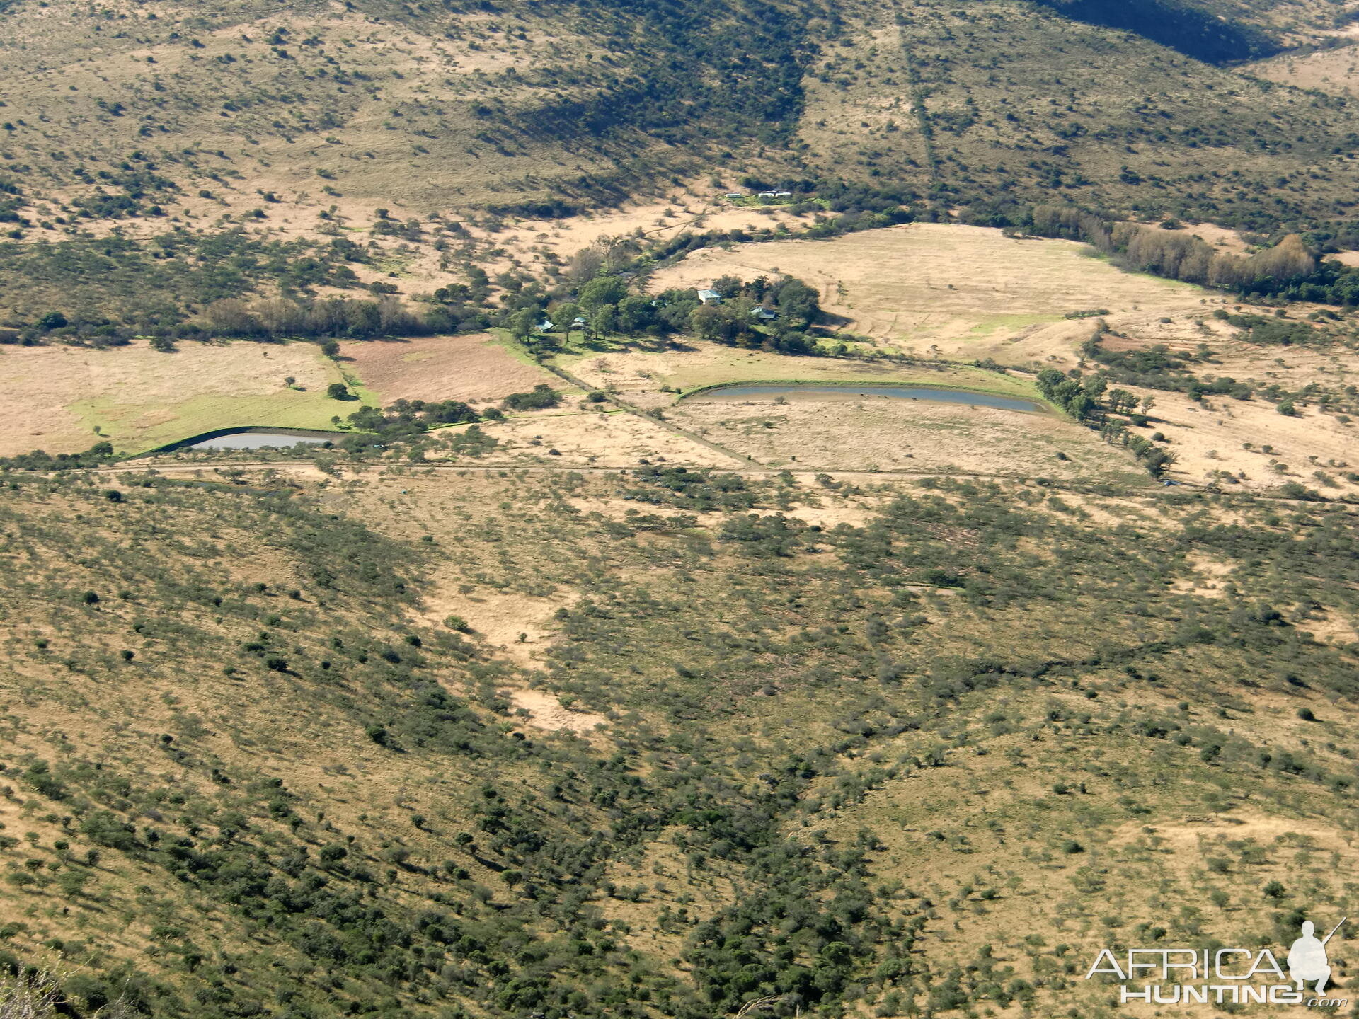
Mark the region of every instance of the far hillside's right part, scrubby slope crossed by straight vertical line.
POLYGON ((845 16, 856 27, 807 79, 813 175, 950 205, 1060 196, 1264 231, 1352 207, 1359 120, 1343 101, 1026 3, 845 16))

